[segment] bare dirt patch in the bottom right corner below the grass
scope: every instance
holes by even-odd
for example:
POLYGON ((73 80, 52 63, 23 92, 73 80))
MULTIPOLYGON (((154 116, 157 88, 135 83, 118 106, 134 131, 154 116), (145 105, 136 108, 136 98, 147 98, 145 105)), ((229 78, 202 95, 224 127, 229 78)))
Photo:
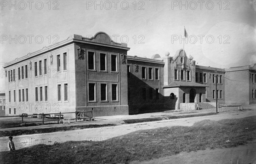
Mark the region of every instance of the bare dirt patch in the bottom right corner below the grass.
POLYGON ((256 141, 239 147, 180 152, 150 161, 132 161, 130 164, 256 164, 256 141))

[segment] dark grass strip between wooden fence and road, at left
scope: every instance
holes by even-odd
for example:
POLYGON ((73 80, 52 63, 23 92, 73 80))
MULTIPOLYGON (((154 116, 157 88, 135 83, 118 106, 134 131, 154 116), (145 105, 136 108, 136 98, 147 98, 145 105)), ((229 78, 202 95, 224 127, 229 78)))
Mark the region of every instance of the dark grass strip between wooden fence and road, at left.
POLYGON ((41 128, 41 129, 1 131, 0 137, 10 136, 10 135, 17 136, 17 135, 59 132, 59 131, 76 130, 76 129, 88 129, 88 128, 96 128, 96 127, 109 127, 109 126, 115 126, 115 124, 101 124, 101 125, 89 124, 89 125, 77 125, 77 126, 68 126, 68 127, 51 127, 51 128, 41 128))

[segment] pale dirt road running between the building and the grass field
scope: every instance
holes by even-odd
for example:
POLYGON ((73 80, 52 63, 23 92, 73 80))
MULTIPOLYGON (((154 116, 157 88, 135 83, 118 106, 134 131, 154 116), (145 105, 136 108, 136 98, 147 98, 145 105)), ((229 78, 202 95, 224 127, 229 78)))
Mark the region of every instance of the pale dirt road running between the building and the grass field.
MULTIPOLYGON (((244 118, 248 116, 256 115, 256 110, 244 111, 244 112, 234 112, 221 115, 212 115, 204 117, 194 117, 194 118, 182 118, 176 120, 166 120, 166 121, 154 121, 140 124, 124 124, 115 127, 102 127, 102 128, 92 128, 92 129, 79 129, 73 131, 65 132, 52 132, 44 134, 34 134, 34 135, 20 135, 13 138, 15 142, 16 149, 21 149, 23 147, 29 147, 36 144, 54 144, 57 142, 65 141, 104 141, 108 138, 116 137, 119 135, 125 135, 130 132, 134 132, 140 129, 154 129, 158 127, 170 127, 170 126, 192 126, 197 121, 202 121, 205 119, 209 120, 221 120, 227 118, 244 118)), ((0 138, 0 151, 7 151, 7 137, 0 138)))

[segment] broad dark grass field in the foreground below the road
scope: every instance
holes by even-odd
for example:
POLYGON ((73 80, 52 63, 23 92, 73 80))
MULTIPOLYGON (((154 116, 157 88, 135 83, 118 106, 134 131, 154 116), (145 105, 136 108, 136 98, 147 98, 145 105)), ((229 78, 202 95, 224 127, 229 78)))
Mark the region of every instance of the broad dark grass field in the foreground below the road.
POLYGON ((105 141, 68 141, 0 152, 0 161, 17 163, 116 164, 144 161, 179 152, 236 147, 256 139, 256 116, 204 120, 192 127, 139 130, 105 141))

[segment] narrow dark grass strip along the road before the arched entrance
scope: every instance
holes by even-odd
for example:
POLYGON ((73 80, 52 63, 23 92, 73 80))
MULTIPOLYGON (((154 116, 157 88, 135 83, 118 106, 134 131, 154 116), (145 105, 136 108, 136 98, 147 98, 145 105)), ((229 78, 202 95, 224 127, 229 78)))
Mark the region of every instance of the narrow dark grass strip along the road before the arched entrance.
POLYGON ((161 120, 171 120, 171 119, 178 119, 178 118, 189 118, 189 117, 198 117, 198 116, 206 116, 206 115, 215 115, 217 113, 199 113, 195 115, 172 115, 172 116, 164 116, 164 117, 154 117, 154 118, 138 118, 138 119, 129 119, 123 120, 125 124, 134 124, 140 122, 150 122, 150 121, 161 121, 161 120))

